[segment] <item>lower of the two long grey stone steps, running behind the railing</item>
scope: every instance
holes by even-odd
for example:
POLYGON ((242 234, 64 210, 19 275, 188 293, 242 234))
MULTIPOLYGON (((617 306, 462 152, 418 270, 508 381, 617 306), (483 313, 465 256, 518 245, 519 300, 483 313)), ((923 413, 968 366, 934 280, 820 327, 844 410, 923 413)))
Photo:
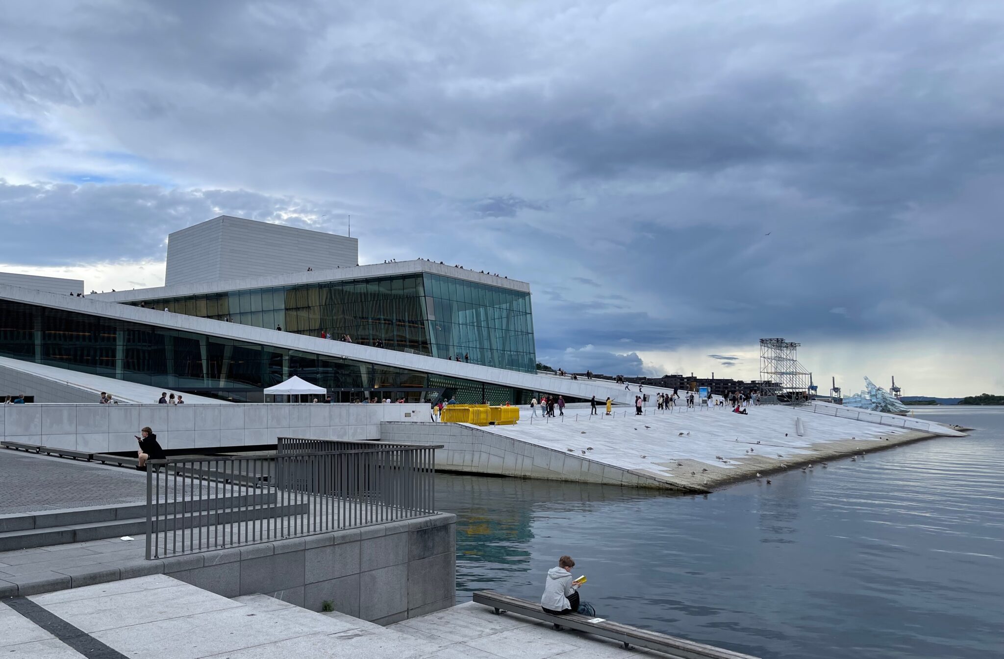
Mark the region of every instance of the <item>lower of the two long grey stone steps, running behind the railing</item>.
MULTIPOLYGON (((251 521, 274 516, 285 517, 303 515, 309 512, 307 504, 294 504, 278 508, 271 506, 255 506, 241 510, 225 509, 202 513, 195 516, 161 519, 155 531, 173 531, 189 529, 197 526, 213 526, 226 524, 235 520, 251 521)), ((30 549, 32 547, 48 547, 50 545, 66 545, 69 543, 84 543, 89 540, 119 538, 121 536, 142 536, 147 533, 147 518, 129 520, 111 520, 84 524, 70 524, 60 527, 45 527, 42 529, 24 529, 0 533, 0 552, 30 549)))

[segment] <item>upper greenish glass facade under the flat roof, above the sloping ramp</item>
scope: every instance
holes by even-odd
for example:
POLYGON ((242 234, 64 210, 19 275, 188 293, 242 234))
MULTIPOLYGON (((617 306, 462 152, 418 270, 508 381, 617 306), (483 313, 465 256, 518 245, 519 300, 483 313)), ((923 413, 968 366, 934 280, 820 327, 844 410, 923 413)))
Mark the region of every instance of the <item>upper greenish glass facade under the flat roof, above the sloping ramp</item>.
MULTIPOLYGON (((139 306, 141 301, 130 304, 139 306)), ((530 294, 421 274, 143 300, 173 313, 533 373, 530 294)))

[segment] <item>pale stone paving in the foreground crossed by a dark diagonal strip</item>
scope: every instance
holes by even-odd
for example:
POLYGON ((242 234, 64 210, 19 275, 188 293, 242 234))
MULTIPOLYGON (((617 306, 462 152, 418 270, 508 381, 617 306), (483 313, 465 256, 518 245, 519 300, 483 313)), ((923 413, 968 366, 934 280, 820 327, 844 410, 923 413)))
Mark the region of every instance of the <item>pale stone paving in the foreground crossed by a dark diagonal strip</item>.
POLYGON ((7 600, 0 629, 4 656, 53 659, 76 659, 88 648, 108 659, 666 656, 473 603, 381 627, 263 595, 227 599, 165 575, 7 600))

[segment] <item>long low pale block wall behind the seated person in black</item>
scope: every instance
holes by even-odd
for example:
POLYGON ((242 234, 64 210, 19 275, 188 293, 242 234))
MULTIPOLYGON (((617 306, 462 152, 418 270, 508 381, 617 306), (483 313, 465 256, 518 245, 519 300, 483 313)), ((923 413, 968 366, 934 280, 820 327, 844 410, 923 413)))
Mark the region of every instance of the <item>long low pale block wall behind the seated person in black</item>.
MULTIPOLYGON (((421 412, 420 412, 421 409, 421 412)), ((166 449, 273 444, 277 436, 380 439, 381 423, 427 418, 408 404, 97 403, 0 405, 0 439, 89 452, 136 449, 150 426, 166 449)))

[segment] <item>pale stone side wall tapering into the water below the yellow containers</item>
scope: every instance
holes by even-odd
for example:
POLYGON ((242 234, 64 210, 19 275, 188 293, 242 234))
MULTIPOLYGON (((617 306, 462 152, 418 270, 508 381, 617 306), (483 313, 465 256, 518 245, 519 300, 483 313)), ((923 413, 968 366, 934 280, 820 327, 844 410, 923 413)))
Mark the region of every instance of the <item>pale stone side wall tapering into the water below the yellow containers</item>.
POLYGON ((443 444, 436 468, 468 473, 676 488, 673 483, 598 460, 538 446, 464 423, 381 424, 384 441, 443 444))

